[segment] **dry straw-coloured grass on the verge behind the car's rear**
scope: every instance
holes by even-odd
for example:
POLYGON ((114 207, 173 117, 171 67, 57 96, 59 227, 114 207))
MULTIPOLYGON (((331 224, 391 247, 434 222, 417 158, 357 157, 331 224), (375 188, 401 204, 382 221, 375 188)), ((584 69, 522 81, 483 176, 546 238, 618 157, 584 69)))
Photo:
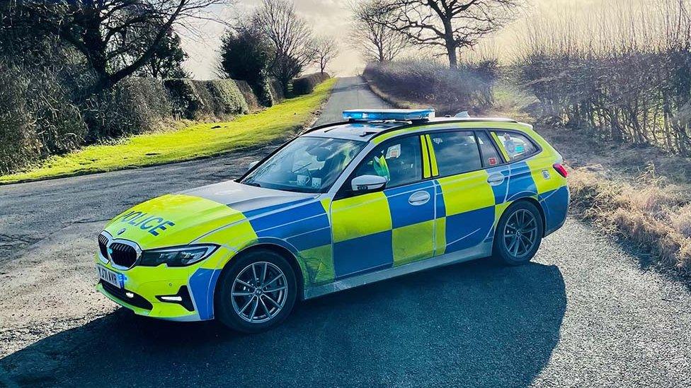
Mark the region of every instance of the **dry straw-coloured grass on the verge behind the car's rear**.
POLYGON ((691 275, 691 188, 641 175, 612 180, 588 167, 571 171, 573 212, 619 235, 663 267, 691 275))

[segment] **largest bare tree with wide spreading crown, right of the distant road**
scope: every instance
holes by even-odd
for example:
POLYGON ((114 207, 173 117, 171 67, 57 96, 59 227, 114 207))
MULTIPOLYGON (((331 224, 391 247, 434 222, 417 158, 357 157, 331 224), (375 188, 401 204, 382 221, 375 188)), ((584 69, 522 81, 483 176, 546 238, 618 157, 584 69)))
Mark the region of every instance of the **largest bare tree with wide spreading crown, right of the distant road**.
POLYGON ((442 47, 452 69, 458 67, 458 50, 473 47, 512 20, 520 0, 375 0, 373 6, 386 17, 377 23, 402 33, 418 44, 442 47))

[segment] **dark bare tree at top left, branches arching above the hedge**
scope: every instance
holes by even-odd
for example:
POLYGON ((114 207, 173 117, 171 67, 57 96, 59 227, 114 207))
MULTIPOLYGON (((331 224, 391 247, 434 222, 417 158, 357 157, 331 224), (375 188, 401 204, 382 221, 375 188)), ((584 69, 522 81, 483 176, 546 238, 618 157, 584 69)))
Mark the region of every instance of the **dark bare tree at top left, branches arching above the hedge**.
POLYGON ((205 18, 204 8, 233 0, 19 0, 21 23, 74 47, 98 77, 93 92, 145 66, 161 40, 183 18, 205 18))

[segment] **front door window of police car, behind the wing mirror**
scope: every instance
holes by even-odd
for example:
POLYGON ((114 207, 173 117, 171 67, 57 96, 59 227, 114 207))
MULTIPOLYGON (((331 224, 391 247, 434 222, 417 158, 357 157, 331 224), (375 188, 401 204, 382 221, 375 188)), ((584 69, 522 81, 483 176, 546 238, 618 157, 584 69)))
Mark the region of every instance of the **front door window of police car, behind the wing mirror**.
POLYGON ((422 180, 422 156, 419 136, 406 136, 377 146, 355 169, 355 177, 379 175, 389 180, 387 187, 422 180))

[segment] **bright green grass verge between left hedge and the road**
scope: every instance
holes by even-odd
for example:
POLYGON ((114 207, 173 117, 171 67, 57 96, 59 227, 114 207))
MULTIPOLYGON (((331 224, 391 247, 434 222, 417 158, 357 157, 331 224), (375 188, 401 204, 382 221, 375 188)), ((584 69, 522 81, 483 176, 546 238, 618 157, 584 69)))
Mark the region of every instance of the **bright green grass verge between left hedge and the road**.
POLYGON ((195 124, 176 131, 131 136, 112 145, 95 145, 48 158, 25 172, 0 176, 0 184, 123 170, 206 158, 258 146, 292 134, 314 117, 331 94, 336 78, 314 93, 290 98, 231 122, 195 124))

